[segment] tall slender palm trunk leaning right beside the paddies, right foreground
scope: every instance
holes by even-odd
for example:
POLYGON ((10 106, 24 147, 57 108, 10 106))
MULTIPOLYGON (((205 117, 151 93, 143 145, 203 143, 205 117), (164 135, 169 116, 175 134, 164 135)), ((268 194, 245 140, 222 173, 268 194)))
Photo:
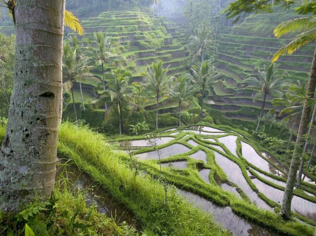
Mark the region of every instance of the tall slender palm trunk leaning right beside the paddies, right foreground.
POLYGON ((294 153, 291 160, 291 165, 290 165, 290 169, 289 169, 289 173, 288 173, 288 177, 286 181, 286 186, 284 190, 282 207, 280 211, 280 214, 282 215, 282 217, 286 219, 289 218, 290 211, 291 211, 291 200, 292 200, 293 188, 295 184, 298 165, 300 163, 302 135, 304 135, 307 131, 309 116, 311 114, 311 107, 308 106, 308 103, 314 98, 315 87, 316 87, 316 48, 314 52, 310 78, 307 85, 306 99, 305 99, 304 107, 302 111, 300 127, 299 127, 297 138, 296 138, 294 153))

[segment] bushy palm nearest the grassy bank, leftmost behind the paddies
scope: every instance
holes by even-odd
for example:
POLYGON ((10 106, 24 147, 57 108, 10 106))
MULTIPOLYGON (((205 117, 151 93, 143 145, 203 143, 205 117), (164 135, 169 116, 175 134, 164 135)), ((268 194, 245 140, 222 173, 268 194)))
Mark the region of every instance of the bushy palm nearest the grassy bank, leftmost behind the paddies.
POLYGON ((131 75, 129 73, 120 68, 106 74, 107 89, 105 90, 105 93, 108 93, 111 97, 111 101, 118 106, 119 134, 124 132, 123 103, 133 102, 131 86, 129 85, 130 77, 131 75))

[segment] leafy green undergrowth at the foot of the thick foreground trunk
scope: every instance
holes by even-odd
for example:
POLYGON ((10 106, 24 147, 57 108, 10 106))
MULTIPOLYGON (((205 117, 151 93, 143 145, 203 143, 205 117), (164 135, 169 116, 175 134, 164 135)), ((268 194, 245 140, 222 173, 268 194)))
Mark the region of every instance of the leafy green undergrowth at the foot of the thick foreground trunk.
POLYGON ((0 235, 28 235, 28 227, 36 236, 138 235, 126 223, 117 225, 113 218, 99 213, 96 205, 87 206, 85 190, 75 189, 65 181, 61 177, 47 201, 35 201, 15 214, 0 212, 0 235))

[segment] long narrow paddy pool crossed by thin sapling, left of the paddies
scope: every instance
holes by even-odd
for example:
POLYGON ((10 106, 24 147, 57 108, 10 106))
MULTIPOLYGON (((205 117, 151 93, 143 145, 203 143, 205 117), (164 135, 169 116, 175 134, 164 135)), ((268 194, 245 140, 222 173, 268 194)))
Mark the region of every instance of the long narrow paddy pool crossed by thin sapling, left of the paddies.
MULTIPOLYGON (((182 144, 173 144, 168 147, 162 148, 159 151, 161 152, 160 159, 165 159, 177 154, 189 152, 190 149, 182 144)), ((140 160, 158 159, 158 153, 157 151, 152 151, 148 153, 138 154, 135 157, 138 157, 140 160)))

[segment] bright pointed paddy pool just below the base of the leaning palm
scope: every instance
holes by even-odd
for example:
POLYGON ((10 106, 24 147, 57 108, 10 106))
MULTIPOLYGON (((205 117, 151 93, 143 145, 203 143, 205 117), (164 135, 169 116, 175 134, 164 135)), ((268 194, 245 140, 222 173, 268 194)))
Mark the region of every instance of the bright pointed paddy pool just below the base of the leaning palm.
POLYGON ((242 157, 254 166, 271 174, 277 173, 277 169, 264 158, 260 157, 249 144, 241 142, 241 153, 242 157))

